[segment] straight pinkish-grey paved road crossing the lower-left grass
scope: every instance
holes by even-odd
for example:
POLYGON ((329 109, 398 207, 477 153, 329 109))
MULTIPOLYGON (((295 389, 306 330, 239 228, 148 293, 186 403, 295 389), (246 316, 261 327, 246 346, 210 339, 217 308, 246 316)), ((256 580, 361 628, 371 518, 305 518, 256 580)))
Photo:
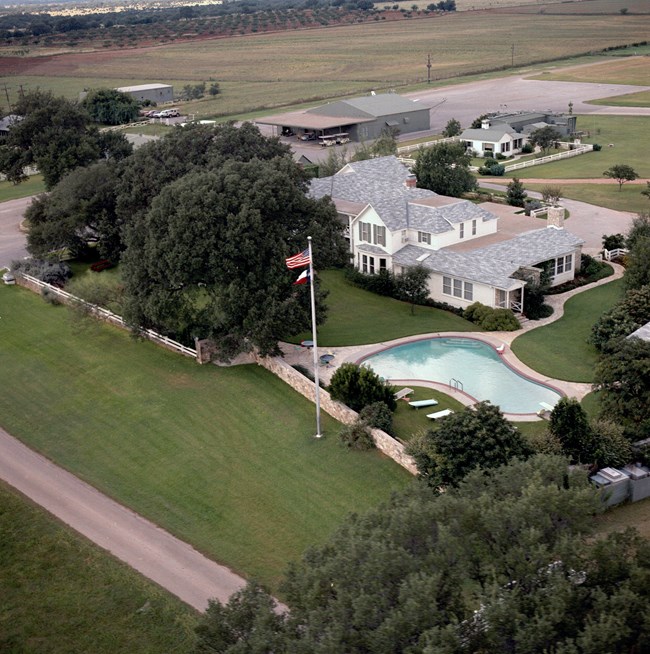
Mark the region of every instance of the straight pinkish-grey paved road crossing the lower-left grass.
POLYGON ((246 581, 0 428, 0 478, 198 611, 246 581))

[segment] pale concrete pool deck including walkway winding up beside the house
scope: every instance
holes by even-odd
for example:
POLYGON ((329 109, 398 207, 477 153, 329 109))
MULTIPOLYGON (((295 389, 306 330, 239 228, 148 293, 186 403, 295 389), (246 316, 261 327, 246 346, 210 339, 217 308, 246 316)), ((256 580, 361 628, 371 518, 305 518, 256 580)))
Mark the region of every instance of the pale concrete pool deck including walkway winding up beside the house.
MULTIPOLYGON (((546 303, 553 307, 553 314, 548 318, 542 320, 530 320, 525 322, 521 329, 518 329, 514 332, 431 332, 428 334, 417 334, 412 336, 405 336, 403 338, 396 338, 390 341, 382 341, 379 343, 371 343, 367 345, 349 345, 349 346, 340 346, 340 347, 329 347, 329 346, 319 346, 318 355, 322 356, 323 354, 331 354, 334 356, 334 359, 327 365, 320 365, 318 368, 318 373, 320 379, 329 383, 334 371, 343 363, 356 363, 360 359, 363 359, 371 354, 375 354, 382 350, 385 350, 389 347, 395 345, 402 345, 404 343, 411 343, 413 341, 423 340, 427 338, 444 338, 444 337, 456 337, 456 338, 473 338, 484 343, 488 343, 495 349, 501 345, 505 345, 505 350, 501 355, 504 362, 513 368, 516 372, 522 374, 524 377, 528 377, 534 382, 543 384, 545 386, 550 386, 562 393, 567 397, 575 397, 578 400, 582 400, 585 395, 591 392, 591 384, 589 383, 580 383, 580 382, 570 382, 564 381, 561 379, 554 379, 552 377, 547 377, 540 374, 536 370, 533 370, 525 363, 520 361, 517 356, 512 352, 511 345, 512 342, 522 334, 529 332, 538 327, 543 327, 548 325, 556 320, 559 320, 564 315, 564 304, 567 300, 572 298, 578 293, 583 293, 585 291, 591 290, 597 286, 607 284, 616 279, 619 279, 623 276, 623 267, 618 264, 611 264, 614 268, 614 274, 601 279, 593 284, 588 284, 587 286, 582 286, 580 288, 567 291, 566 293, 560 293, 558 295, 548 295, 546 296, 546 303)), ((288 343, 281 344, 283 355, 285 361, 291 365, 302 365, 307 369, 311 369, 313 366, 313 352, 311 348, 305 348, 300 345, 292 345, 288 343)), ((451 387, 449 384, 432 382, 432 381, 423 381, 416 379, 391 379, 391 384, 395 386, 407 386, 409 384, 416 384, 418 386, 424 386, 427 388, 433 388, 435 390, 442 391, 447 395, 450 395, 455 400, 458 400, 466 406, 475 404, 476 400, 471 396, 467 395, 463 391, 460 391, 454 387, 451 387)), ((541 418, 536 414, 508 414, 504 413, 505 417, 509 420, 519 421, 519 422, 529 422, 534 420, 541 420, 541 418)))

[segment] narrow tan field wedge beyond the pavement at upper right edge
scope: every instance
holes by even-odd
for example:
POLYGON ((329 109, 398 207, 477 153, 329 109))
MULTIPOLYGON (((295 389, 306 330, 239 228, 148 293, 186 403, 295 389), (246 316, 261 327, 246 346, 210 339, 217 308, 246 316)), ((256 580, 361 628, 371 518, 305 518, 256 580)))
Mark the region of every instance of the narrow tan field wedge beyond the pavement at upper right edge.
POLYGON ((545 71, 533 79, 594 84, 636 84, 650 86, 650 57, 616 57, 593 66, 576 66, 561 71, 545 71))

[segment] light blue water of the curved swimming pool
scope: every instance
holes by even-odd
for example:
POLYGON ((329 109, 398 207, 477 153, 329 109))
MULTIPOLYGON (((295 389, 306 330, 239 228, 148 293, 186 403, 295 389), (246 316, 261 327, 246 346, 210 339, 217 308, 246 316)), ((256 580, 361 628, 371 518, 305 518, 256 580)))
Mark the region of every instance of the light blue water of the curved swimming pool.
POLYGON ((472 338, 431 338, 396 345, 366 357, 385 379, 411 379, 449 384, 452 379, 476 400, 489 400, 504 413, 536 413, 540 402, 554 406, 562 397, 508 367, 495 350, 472 338))

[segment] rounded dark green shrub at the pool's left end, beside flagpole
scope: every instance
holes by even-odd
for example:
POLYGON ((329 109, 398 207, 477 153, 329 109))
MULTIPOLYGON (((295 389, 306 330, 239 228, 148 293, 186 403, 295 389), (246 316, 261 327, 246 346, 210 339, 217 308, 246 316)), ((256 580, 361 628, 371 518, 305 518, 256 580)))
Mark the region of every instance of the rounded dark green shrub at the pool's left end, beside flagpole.
POLYGON ((355 411, 375 402, 384 402, 395 410, 395 390, 374 370, 355 363, 344 363, 332 375, 329 385, 332 399, 347 404, 355 411))

